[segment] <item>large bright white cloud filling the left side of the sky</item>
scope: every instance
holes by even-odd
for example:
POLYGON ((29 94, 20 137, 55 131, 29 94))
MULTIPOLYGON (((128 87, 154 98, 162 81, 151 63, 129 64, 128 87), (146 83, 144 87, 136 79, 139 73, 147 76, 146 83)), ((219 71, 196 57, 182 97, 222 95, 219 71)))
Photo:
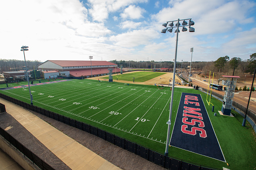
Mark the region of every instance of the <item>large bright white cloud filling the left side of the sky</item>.
POLYGON ((76 0, 5 1, 0 15, 8 16, 0 18, 0 44, 6 49, 1 58, 23 60, 23 45, 29 46, 27 60, 67 59, 74 51, 90 54, 84 44, 105 42, 111 34, 103 24, 90 22, 87 9, 76 0))

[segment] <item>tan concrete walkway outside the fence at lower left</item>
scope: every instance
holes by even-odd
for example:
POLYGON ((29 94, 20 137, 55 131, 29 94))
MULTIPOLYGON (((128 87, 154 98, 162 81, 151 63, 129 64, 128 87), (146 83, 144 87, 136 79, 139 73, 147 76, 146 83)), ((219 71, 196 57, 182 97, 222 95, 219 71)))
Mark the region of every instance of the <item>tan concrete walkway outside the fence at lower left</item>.
POLYGON ((0 98, 6 111, 71 169, 120 169, 30 111, 0 98))

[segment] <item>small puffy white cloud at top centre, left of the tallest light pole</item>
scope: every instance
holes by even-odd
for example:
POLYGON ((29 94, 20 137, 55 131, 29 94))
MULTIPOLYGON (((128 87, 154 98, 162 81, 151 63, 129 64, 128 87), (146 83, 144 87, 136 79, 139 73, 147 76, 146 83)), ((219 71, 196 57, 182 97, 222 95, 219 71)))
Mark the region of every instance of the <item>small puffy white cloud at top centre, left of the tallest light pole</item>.
POLYGON ((128 8, 124 10, 120 16, 123 19, 140 19, 143 18, 142 14, 145 12, 144 9, 141 9, 140 7, 136 7, 134 5, 130 5, 128 8))

